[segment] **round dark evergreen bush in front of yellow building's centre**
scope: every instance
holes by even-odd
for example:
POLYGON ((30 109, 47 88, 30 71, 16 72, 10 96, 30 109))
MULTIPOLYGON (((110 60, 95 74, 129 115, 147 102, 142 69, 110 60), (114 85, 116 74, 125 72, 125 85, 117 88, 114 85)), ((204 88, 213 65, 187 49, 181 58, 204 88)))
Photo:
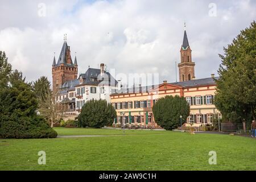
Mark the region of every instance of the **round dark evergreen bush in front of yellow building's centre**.
POLYGON ((166 96, 160 98, 152 108, 155 122, 166 130, 177 129, 187 119, 190 109, 184 97, 166 96))

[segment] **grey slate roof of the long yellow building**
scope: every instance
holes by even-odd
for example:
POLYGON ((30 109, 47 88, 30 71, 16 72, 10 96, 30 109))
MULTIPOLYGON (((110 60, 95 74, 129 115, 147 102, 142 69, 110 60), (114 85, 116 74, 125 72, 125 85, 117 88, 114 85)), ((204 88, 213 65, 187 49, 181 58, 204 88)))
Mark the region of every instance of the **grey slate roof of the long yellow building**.
MULTIPOLYGON (((218 80, 219 77, 214 77, 216 80, 218 80)), ((191 88, 195 86, 203 86, 203 85, 214 85, 216 82, 212 77, 210 78, 202 78, 198 80, 190 80, 190 81, 183 81, 183 82, 172 82, 169 83, 171 85, 177 85, 177 86, 182 86, 184 88, 191 88)), ((159 84, 160 85, 160 84, 159 84)), ((159 85, 150 85, 150 86, 142 86, 142 93, 147 92, 147 90, 151 90, 154 88, 157 88, 159 85)), ((139 87, 135 88, 127 88, 125 89, 120 89, 120 90, 112 90, 112 95, 118 95, 118 94, 126 94, 126 93, 139 93, 139 87)))

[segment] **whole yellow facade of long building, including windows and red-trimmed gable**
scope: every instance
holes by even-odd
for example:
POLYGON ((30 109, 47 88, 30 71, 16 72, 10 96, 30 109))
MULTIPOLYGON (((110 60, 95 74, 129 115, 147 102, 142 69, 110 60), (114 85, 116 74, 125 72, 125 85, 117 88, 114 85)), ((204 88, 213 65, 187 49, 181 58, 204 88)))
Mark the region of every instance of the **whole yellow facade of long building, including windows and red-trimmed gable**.
POLYGON ((116 123, 121 125, 127 123, 131 125, 158 127, 154 120, 154 114, 152 113, 152 106, 157 102, 158 98, 168 95, 184 96, 188 102, 192 102, 191 115, 187 118, 185 126, 189 126, 189 121, 191 120, 194 122, 193 126, 201 126, 212 124, 212 119, 216 117, 215 114, 219 114, 213 104, 215 92, 216 84, 182 86, 165 82, 160 84, 158 88, 148 90, 148 92, 144 93, 112 94, 111 102, 118 115, 116 123), (147 107, 144 106, 145 101, 147 107), (137 105, 137 102, 141 104, 137 105))

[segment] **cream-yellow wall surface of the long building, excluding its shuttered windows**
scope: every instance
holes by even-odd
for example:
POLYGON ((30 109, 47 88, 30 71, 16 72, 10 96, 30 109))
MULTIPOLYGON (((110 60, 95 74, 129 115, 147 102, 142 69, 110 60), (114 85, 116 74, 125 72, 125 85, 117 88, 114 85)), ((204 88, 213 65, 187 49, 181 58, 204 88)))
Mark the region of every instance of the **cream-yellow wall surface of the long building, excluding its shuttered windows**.
MULTIPOLYGON (((153 91, 151 93, 131 93, 131 94, 119 94, 119 95, 113 95, 111 96, 111 102, 112 105, 116 107, 116 111, 117 111, 117 115, 118 117, 122 117, 123 116, 123 112, 124 112, 124 116, 129 117, 129 115, 131 114, 131 116, 137 116, 137 115, 143 115, 144 116, 144 122, 143 123, 134 123, 134 124, 138 124, 138 125, 146 125, 146 113, 147 114, 152 114, 152 106, 154 105, 154 100, 155 102, 158 100, 158 98, 164 97, 164 96, 168 96, 168 95, 172 95, 172 96, 184 96, 186 99, 187 98, 193 98, 193 97, 203 97, 204 100, 204 96, 213 96, 215 95, 216 92, 216 85, 208 85, 208 86, 197 86, 195 88, 185 88, 185 89, 168 89, 167 90, 162 90, 164 88, 164 86, 162 86, 162 88, 160 88, 158 91, 153 91), (147 107, 147 108, 135 108, 134 107, 134 101, 144 101, 144 100, 150 100, 151 102, 151 107, 147 107), (133 102, 133 108, 132 109, 118 109, 117 106, 115 105, 116 103, 119 102, 133 102)), ((201 100, 200 100, 201 101, 201 100)), ((204 117, 214 117, 214 114, 218 114, 219 111, 216 109, 216 107, 214 106, 214 104, 206 104, 204 103, 204 101, 202 101, 201 103, 199 103, 200 105, 192 104, 191 105, 191 116, 189 116, 187 118, 187 123, 185 125, 189 126, 189 121, 193 120, 193 117, 197 117, 197 115, 202 118, 202 122, 197 123, 195 120, 194 122, 194 126, 201 126, 202 124, 211 124, 211 122, 204 122, 204 117), (193 116, 195 115, 195 116, 193 116), (205 116, 206 115, 206 116, 205 116)), ((152 125, 152 126, 157 126, 155 121, 154 121, 154 115, 152 114, 152 122, 148 123, 148 125, 152 125)), ((198 120, 199 121, 199 120, 198 120)), ((122 122, 122 120, 121 120, 122 122)))

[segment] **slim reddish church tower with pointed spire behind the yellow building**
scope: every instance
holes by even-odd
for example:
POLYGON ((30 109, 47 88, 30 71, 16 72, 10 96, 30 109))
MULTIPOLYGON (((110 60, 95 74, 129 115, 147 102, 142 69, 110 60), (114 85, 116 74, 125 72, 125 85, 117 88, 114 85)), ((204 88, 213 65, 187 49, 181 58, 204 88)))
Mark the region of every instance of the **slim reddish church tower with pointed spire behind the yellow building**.
POLYGON ((191 52, 187 32, 184 31, 183 44, 180 49, 181 61, 178 64, 180 81, 192 80, 195 77, 195 63, 192 62, 191 52))

